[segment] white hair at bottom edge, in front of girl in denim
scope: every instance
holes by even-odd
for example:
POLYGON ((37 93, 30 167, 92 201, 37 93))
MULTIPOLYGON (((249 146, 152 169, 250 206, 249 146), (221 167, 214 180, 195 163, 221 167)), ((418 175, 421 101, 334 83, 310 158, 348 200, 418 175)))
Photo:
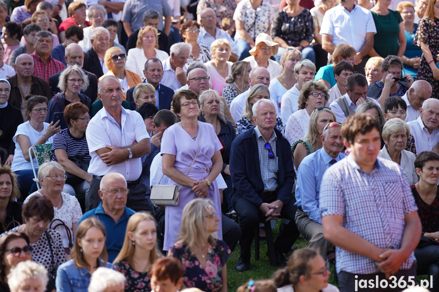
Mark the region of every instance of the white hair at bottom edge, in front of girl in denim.
POLYGON ((125 285, 125 276, 121 272, 113 269, 100 267, 90 279, 89 292, 105 292, 108 287, 117 284, 125 285))

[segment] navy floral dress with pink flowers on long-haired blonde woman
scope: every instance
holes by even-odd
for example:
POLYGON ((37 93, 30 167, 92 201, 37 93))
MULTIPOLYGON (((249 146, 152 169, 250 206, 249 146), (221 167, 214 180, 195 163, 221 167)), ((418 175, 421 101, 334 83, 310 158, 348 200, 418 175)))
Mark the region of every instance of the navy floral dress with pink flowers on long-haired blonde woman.
POLYGON ((206 267, 202 267, 187 243, 175 243, 169 255, 182 261, 183 282, 187 288, 196 287, 205 292, 217 292, 222 288, 222 267, 227 263, 231 251, 222 240, 209 246, 206 267))

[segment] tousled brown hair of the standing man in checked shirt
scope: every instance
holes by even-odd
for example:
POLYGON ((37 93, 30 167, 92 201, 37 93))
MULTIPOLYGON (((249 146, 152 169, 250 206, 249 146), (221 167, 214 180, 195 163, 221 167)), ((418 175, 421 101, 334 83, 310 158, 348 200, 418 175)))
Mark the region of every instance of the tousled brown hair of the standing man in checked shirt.
POLYGON ((373 129, 379 131, 378 121, 371 114, 354 114, 347 117, 341 126, 341 135, 349 144, 354 144, 355 136, 366 134, 373 129))

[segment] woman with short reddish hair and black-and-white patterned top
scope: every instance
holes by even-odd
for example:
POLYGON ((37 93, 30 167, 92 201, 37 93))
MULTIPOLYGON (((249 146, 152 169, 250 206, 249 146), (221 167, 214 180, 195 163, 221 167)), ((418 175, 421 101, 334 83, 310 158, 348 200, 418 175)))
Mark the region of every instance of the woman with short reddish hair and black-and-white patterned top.
POLYGON ((207 63, 212 60, 211 50, 208 46, 197 43, 200 26, 196 21, 190 20, 180 25, 180 36, 183 42, 191 44, 192 51, 189 55, 187 65, 193 61, 207 63))

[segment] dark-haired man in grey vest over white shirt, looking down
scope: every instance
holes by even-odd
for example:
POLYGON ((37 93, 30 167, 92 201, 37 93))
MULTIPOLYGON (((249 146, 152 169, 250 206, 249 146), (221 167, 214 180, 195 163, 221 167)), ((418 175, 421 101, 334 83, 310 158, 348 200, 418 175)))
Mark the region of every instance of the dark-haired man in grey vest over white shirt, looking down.
POLYGON ((357 107, 361 104, 373 102, 380 107, 376 100, 367 97, 367 79, 363 74, 356 73, 347 77, 345 90, 346 94, 330 105, 340 123, 344 122, 348 116, 355 114, 357 107))

